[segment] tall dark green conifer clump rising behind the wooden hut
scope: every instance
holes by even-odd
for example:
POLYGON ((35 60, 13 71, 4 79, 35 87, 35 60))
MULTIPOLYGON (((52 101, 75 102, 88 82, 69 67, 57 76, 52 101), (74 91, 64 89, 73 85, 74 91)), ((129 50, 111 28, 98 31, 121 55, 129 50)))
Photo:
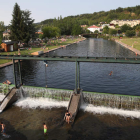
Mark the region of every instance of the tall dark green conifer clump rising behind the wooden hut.
POLYGON ((30 11, 21 11, 19 5, 15 4, 10 25, 12 40, 28 43, 35 37, 34 20, 30 18, 30 15, 30 11))

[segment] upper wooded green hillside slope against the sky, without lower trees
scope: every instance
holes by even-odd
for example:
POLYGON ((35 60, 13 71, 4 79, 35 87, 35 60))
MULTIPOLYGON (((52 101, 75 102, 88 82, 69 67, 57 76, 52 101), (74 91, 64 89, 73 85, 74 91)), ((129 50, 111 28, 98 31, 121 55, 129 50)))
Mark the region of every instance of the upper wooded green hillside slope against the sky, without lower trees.
POLYGON ((110 11, 100 11, 94 12, 93 14, 81 14, 76 16, 68 16, 62 19, 62 17, 58 17, 58 19, 46 19, 41 21, 41 24, 47 25, 55 25, 56 22, 60 21, 76 21, 79 25, 92 25, 99 24, 100 22, 109 23, 113 19, 140 19, 140 5, 135 7, 127 7, 127 8, 117 8, 110 11))

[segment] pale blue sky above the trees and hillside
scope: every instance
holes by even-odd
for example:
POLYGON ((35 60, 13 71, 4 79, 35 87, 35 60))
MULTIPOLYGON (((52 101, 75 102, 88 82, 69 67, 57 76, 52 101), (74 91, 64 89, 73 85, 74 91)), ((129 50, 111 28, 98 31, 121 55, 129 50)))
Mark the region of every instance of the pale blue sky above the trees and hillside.
POLYGON ((21 10, 31 11, 35 23, 46 19, 62 18, 71 15, 109 11, 118 7, 134 7, 140 0, 0 0, 0 21, 9 25, 15 3, 21 10))

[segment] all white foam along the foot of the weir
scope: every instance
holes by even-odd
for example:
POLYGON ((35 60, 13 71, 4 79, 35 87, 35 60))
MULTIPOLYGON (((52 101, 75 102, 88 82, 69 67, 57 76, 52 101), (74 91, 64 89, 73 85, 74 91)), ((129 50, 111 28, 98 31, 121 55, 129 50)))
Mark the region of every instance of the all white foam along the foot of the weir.
MULTIPOLYGON (((5 96, 0 95, 0 100, 2 100, 5 96)), ((53 99, 47 98, 22 98, 15 103, 16 106, 22 108, 33 108, 36 109, 37 107, 44 108, 44 109, 51 109, 51 108, 60 108, 60 107, 67 107, 68 101, 56 101, 53 99)), ((138 118, 140 119, 140 111, 138 110, 123 110, 117 108, 109 108, 103 106, 94 106, 92 104, 82 104, 80 107, 85 112, 91 112, 93 114, 114 114, 120 115, 124 117, 131 117, 131 118, 138 118)))

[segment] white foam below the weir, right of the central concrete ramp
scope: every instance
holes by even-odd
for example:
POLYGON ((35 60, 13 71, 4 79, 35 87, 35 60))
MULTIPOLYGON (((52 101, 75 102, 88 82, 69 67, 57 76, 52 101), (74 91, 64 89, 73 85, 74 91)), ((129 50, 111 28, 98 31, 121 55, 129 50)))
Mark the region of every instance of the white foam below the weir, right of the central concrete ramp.
POLYGON ((140 111, 138 110, 129 111, 129 110, 109 108, 109 107, 103 107, 103 106, 97 107, 91 104, 83 104, 81 105, 81 109, 83 111, 91 112, 93 114, 114 114, 114 115, 120 115, 124 117, 140 119, 140 111))

